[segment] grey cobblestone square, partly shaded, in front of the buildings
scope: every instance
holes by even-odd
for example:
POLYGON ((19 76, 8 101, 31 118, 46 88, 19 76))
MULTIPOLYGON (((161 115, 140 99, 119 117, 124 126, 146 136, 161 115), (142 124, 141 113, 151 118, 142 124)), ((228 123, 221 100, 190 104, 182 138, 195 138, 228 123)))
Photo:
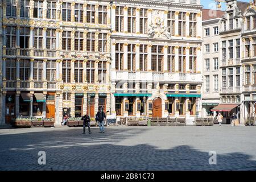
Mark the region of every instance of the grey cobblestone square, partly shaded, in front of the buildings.
POLYGON ((256 127, 0 130, 0 170, 255 170, 256 127), (38 152, 46 152, 46 165, 38 152), (209 152, 217 164, 209 164, 209 152))

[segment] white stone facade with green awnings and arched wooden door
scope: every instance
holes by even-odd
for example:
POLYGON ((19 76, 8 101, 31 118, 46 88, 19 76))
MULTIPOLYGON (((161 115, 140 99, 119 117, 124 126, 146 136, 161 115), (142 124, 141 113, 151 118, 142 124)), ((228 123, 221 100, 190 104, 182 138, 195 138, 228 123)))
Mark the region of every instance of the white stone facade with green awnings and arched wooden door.
POLYGON ((112 115, 201 114, 200 1, 113 1, 112 115))

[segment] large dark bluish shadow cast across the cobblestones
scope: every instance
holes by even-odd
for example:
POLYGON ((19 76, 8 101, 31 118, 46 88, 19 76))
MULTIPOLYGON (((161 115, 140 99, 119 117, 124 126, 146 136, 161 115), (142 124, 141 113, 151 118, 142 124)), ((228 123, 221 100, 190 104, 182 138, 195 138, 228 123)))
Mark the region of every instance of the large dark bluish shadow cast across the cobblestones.
MULTIPOLYGON (((208 152, 181 145, 160 150, 149 144, 116 143, 149 130, 109 128, 106 133, 82 134, 81 128, 0 135, 0 170, 256 170, 250 155, 238 152, 218 155, 209 164, 208 152), (38 164, 38 152, 46 152, 46 165, 38 164)), ((87 130, 88 131, 88 130, 87 130)))

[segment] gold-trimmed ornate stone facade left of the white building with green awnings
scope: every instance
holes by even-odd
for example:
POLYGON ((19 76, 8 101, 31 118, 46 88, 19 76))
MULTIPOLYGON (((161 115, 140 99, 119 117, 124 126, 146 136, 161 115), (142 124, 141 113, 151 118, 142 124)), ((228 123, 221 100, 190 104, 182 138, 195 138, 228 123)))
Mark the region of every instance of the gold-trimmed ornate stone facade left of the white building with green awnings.
POLYGON ((2 2, 2 124, 109 110, 110 8, 104 0, 2 2))

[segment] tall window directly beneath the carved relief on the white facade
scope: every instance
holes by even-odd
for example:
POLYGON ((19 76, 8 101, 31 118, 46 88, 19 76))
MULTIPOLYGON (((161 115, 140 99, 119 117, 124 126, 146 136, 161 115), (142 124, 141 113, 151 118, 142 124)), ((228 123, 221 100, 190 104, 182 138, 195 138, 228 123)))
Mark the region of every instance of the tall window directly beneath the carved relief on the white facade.
POLYGON ((163 72, 163 46, 152 46, 151 67, 154 72, 163 72))

